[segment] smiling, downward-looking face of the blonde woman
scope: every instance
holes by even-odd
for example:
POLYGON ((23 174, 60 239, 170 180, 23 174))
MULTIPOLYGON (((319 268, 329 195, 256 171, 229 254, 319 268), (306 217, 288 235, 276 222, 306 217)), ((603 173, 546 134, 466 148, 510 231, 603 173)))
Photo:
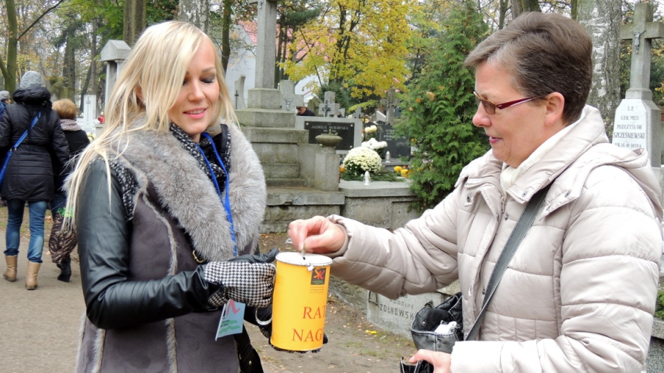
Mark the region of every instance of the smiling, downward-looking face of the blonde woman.
POLYGON ((210 126, 216 113, 219 82, 216 80, 215 60, 214 46, 205 39, 194 53, 178 99, 168 112, 170 121, 182 128, 194 142, 199 142, 201 133, 210 126))

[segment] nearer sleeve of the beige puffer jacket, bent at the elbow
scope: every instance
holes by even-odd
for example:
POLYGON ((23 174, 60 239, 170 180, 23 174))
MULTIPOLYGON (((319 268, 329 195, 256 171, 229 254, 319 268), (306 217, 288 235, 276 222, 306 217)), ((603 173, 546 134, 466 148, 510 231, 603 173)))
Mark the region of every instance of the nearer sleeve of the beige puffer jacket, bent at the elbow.
POLYGON ((560 335, 457 343, 452 372, 645 372, 661 221, 627 173, 597 170, 561 227, 560 335))

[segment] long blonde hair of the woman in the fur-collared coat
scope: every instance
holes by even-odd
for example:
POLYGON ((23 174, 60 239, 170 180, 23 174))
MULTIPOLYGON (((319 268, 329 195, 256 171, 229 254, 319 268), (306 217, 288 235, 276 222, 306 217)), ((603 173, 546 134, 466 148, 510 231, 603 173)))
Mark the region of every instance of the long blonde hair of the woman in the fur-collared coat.
MULTIPOLYGON (((150 26, 138 38, 109 97, 102 133, 78 157, 76 168, 70 176, 66 227, 71 229, 75 224, 76 200, 80 189, 84 187, 83 175, 93 160, 102 157, 110 176, 109 149, 113 144, 116 144, 116 149, 122 149, 119 144, 127 144, 127 133, 169 131, 168 112, 176 103, 194 53, 206 40, 212 43, 199 28, 179 21, 150 26), (143 124, 136 125, 138 119, 142 119, 140 122, 143 124)), ((237 123, 216 48, 214 54, 219 101, 208 127, 219 123, 220 119, 228 124, 237 123)), ((110 177, 108 183, 110 194, 110 177)))

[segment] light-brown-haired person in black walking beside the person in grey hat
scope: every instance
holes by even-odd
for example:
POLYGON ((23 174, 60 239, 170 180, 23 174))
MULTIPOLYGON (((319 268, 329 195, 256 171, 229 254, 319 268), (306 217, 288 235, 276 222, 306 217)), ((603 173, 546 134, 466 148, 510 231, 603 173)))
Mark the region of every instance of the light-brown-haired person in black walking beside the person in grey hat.
POLYGON ((71 173, 72 160, 81 153, 90 140, 85 131, 76 122, 77 108, 71 99, 59 99, 53 102, 53 110, 60 118, 60 127, 64 131, 64 137, 69 145, 69 163, 63 173, 55 175, 55 198, 50 203, 50 214, 53 216, 53 227, 48 239, 48 251, 50 258, 60 269, 57 279, 65 283, 71 278, 71 251, 76 247, 76 233, 62 229, 64 221, 64 208, 66 204, 66 191, 64 191, 64 179, 71 173))

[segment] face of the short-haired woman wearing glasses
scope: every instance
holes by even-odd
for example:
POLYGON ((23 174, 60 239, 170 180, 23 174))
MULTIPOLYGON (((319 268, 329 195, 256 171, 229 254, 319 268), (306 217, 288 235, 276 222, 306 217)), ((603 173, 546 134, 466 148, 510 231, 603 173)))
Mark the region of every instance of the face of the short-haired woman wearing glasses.
MULTIPOLYGON (((484 62, 475 71, 475 91, 482 99, 495 104, 526 97, 512 84, 512 75, 484 62)), ((480 104, 472 117, 475 126, 484 128, 493 155, 500 161, 518 167, 550 134, 544 128, 546 106, 536 101, 524 102, 489 115, 480 104)))

